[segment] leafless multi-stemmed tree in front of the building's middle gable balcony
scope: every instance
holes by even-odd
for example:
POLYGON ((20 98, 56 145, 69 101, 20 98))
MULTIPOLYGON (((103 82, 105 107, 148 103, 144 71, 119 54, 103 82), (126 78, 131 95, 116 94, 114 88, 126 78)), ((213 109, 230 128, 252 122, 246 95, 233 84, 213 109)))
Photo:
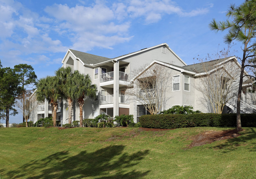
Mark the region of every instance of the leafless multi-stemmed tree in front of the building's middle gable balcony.
POLYGON ((151 66, 138 68, 133 72, 134 88, 127 93, 134 97, 150 114, 158 114, 167 101, 166 91, 169 87, 168 67, 154 63, 151 66))

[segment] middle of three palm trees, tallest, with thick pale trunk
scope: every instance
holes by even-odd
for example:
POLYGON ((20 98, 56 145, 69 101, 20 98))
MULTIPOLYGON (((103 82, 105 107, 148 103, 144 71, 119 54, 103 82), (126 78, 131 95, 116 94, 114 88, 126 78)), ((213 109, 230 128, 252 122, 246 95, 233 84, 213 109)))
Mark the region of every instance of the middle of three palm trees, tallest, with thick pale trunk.
POLYGON ((74 75, 72 73, 71 68, 68 66, 67 68, 59 68, 55 72, 56 77, 58 79, 59 87, 62 92, 62 95, 67 99, 68 101, 68 111, 69 111, 69 124, 71 124, 72 120, 72 113, 73 113, 73 99, 75 96, 75 80, 74 75))

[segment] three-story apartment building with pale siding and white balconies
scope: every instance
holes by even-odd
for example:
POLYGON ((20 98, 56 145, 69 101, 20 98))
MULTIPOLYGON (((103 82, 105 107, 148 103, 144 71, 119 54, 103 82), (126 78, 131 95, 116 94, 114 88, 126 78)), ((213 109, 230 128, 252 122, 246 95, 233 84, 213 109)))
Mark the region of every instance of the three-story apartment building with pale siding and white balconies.
MULTIPOLYGON (((236 57, 230 57, 229 60, 237 61, 236 57)), ((220 60, 219 63, 222 61, 220 60)), ((200 79, 198 74, 202 72, 200 63, 187 65, 166 43, 113 59, 69 49, 62 63, 64 68, 70 66, 72 70, 89 74, 92 83, 97 85, 98 98, 95 100, 85 99, 83 118, 95 118, 101 113, 106 113, 112 118, 121 114, 133 114, 134 121, 137 122, 137 116, 146 114, 147 111, 139 105, 138 101, 133 100, 126 89, 135 88, 133 80, 138 77, 138 74, 134 74, 135 71, 143 67, 147 70, 146 66, 154 63, 165 66, 163 73, 170 79, 166 92, 168 100, 165 101, 162 111, 173 105, 191 105, 194 110, 204 113, 211 112, 201 100, 202 93, 195 88, 200 79)), ((249 86, 244 86, 245 91, 246 87, 249 86)), ((247 102, 246 104, 251 107, 252 112, 253 110, 256 112, 255 101, 253 103, 246 92, 243 93, 242 99, 243 103, 247 102)), ((49 116, 51 111, 48 109, 48 102, 45 101, 40 105, 44 105, 45 108, 37 112, 37 118, 39 114, 43 114, 44 117, 49 116)), ((59 120, 63 125, 68 122, 67 101, 61 100, 59 107, 59 120)), ((235 110, 235 105, 229 103, 224 112, 235 110)), ((241 112, 247 111, 242 110, 241 112)), ((37 118, 34 117, 35 122, 37 118)), ((73 120, 79 120, 79 106, 76 100, 74 100, 73 120)))

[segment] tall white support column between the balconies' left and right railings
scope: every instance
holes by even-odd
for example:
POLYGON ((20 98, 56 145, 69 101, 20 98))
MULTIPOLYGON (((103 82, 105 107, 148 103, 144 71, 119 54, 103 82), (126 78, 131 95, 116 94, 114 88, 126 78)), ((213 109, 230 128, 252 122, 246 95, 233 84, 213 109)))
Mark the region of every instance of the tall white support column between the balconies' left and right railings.
POLYGON ((119 116, 119 61, 114 63, 113 115, 119 116))

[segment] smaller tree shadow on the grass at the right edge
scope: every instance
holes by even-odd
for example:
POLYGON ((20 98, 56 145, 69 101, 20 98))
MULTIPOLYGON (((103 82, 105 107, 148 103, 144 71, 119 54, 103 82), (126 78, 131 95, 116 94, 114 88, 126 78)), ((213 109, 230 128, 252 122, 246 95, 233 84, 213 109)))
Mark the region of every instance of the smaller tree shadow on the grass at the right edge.
POLYGON ((247 131, 241 133, 242 135, 235 138, 227 139, 224 144, 219 144, 217 146, 213 146, 213 149, 222 149, 223 153, 227 153, 230 151, 234 151, 237 149, 237 146, 246 146, 248 151, 256 151, 256 131, 255 128, 250 127, 247 131), (246 144, 246 142, 251 141, 250 144, 246 144))

